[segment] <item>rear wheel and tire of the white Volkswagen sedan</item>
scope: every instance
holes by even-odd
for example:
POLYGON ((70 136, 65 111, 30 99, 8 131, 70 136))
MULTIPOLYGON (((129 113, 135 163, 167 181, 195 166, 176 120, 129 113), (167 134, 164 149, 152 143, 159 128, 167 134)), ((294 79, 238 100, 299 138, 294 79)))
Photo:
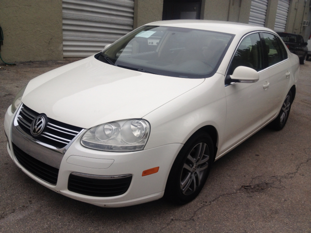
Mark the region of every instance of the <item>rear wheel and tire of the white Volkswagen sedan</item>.
POLYGON ((274 130, 281 130, 284 128, 288 116, 290 114, 291 111, 291 106, 292 106, 292 92, 289 91, 287 93, 287 96, 285 97, 285 100, 283 102, 282 108, 279 112, 279 114, 277 115, 276 119, 274 119, 271 123, 270 123, 270 128, 274 129, 274 130))

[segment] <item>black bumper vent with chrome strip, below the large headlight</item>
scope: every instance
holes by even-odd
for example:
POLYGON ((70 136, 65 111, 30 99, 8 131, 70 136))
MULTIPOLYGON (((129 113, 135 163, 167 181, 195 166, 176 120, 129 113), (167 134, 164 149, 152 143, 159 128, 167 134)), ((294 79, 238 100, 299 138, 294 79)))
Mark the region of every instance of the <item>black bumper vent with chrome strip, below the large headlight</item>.
POLYGON ((113 179, 96 179, 69 175, 68 190, 93 197, 115 197, 125 193, 132 176, 113 179))

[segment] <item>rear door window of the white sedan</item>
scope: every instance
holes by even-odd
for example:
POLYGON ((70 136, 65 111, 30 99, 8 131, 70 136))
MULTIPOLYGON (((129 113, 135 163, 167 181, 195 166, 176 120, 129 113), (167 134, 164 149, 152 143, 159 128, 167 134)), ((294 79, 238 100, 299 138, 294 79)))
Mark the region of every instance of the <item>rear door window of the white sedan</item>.
POLYGON ((270 33, 262 33, 265 42, 265 50, 268 55, 268 67, 283 61, 283 54, 279 43, 277 43, 276 36, 270 33))

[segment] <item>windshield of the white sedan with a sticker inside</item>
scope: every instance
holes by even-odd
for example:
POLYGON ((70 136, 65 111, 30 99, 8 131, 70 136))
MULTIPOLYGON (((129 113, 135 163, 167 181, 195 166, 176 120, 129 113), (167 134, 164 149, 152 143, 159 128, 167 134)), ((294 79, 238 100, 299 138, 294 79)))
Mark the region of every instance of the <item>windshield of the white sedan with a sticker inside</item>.
POLYGON ((216 72, 233 37, 188 28, 144 26, 125 35, 96 58, 147 73, 207 78, 216 72))

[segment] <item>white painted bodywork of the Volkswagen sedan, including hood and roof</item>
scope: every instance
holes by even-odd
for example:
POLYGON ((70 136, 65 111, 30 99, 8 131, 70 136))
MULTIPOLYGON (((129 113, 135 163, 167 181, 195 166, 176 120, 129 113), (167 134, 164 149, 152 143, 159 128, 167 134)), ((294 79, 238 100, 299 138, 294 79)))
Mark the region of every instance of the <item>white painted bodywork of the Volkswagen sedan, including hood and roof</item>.
MULTIPOLYGON (((51 185, 21 166, 14 156, 11 131, 15 114, 5 115, 8 152, 13 161, 38 183, 70 198, 103 207, 120 207, 163 196, 173 162, 190 136, 204 126, 217 131, 216 159, 225 155, 271 122, 284 98, 296 84, 299 60, 289 50, 288 59, 259 71, 256 83, 225 86, 225 75, 241 38, 256 31, 272 30, 246 24, 206 20, 174 20, 148 25, 183 27, 235 34, 217 72, 206 79, 184 79, 142 73, 104 64, 94 56, 57 68, 32 80, 22 102, 38 113, 89 129, 105 122, 143 118, 151 125, 144 150, 107 152, 81 145, 83 134, 62 159, 58 182, 51 185), (142 176, 142 171, 159 171, 142 176), (132 174, 126 193, 117 197, 90 197, 68 190, 72 172, 114 176, 132 174)), ((285 46, 286 47, 286 46, 285 46)))

